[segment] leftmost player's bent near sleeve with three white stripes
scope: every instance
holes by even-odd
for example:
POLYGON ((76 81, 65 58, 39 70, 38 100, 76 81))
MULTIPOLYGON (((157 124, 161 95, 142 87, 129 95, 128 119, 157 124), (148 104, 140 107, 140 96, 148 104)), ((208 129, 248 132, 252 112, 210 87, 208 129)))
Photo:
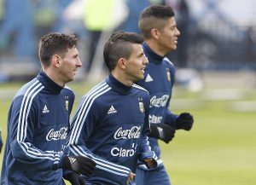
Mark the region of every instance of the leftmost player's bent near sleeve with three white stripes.
POLYGON ((13 125, 9 130, 10 150, 13 157, 24 164, 34 165, 42 171, 53 170, 61 154, 42 151, 32 145, 37 112, 37 103, 29 95, 15 98, 9 110, 9 124, 13 125))

